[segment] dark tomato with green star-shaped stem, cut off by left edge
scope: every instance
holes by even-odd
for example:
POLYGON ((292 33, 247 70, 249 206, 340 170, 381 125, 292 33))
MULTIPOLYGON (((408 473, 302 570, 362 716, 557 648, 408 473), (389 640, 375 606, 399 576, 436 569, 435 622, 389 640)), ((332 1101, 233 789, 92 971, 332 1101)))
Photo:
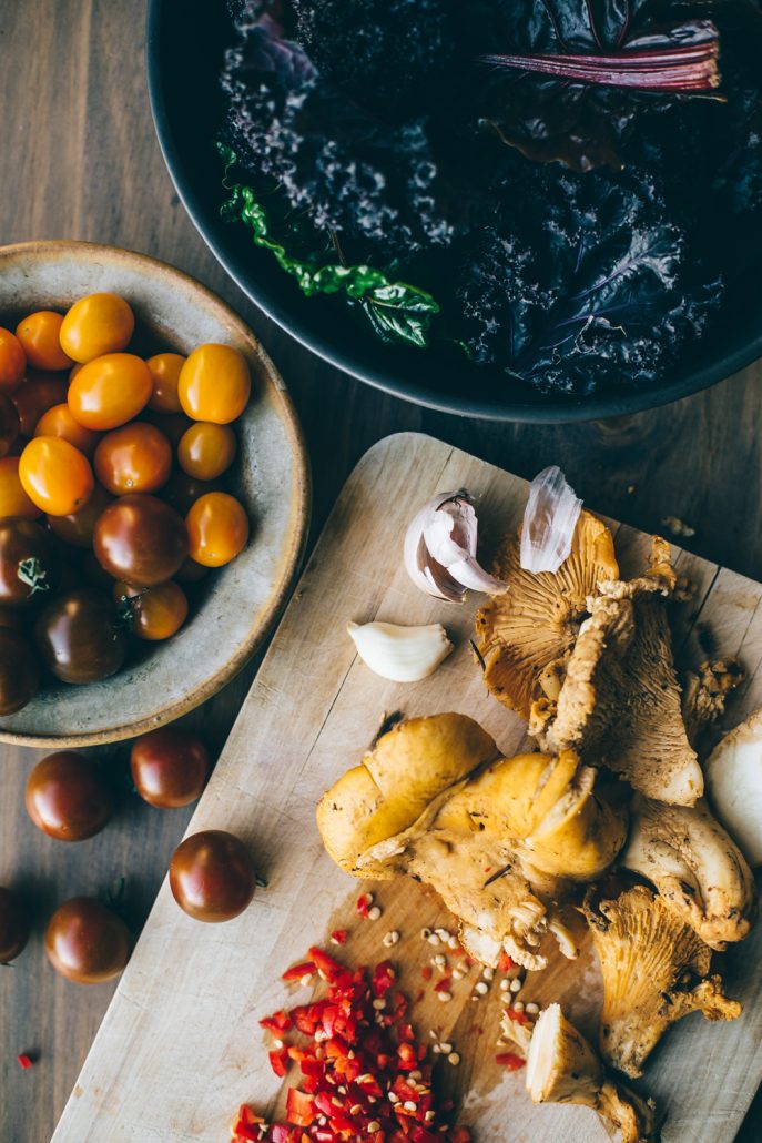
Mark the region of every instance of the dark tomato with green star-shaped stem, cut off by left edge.
POLYGON ((35 520, 0 521, 0 604, 14 610, 45 602, 61 581, 50 536, 35 520))

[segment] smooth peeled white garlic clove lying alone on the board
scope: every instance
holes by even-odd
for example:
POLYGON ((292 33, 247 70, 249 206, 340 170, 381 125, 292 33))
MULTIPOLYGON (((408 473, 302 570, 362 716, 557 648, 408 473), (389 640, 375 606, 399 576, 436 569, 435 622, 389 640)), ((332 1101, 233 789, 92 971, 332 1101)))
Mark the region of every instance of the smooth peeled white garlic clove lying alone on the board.
POLYGON ((392 682, 426 679, 452 650, 441 623, 406 628, 396 623, 350 622, 346 630, 366 666, 392 682))

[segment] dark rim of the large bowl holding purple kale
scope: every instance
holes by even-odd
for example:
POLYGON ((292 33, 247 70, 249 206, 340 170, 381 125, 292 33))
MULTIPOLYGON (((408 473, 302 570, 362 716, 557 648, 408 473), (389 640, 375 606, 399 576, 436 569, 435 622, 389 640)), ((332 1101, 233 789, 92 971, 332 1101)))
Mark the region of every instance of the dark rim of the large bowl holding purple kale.
MULTIPOLYGON (((387 367, 372 366, 358 361, 352 351, 342 352, 332 338, 306 327, 298 315, 295 317, 289 311, 288 305, 273 295, 266 282, 251 281, 244 269, 236 263, 231 249, 220 240, 219 229, 214 225, 214 219, 208 217, 206 203, 195 191, 192 181, 185 177, 182 154, 170 129, 167 99, 162 86, 160 22, 165 3, 166 0, 149 0, 147 2, 146 75, 149 101, 159 147, 177 195, 201 238, 239 288, 284 333, 335 368, 371 385, 374 389, 436 413, 512 423, 571 424, 626 416, 669 405, 725 381, 762 357, 761 321, 756 335, 747 343, 736 347, 732 352, 725 352, 721 360, 701 365, 682 379, 655 384, 632 392, 623 391, 592 398, 566 398, 563 403, 556 398, 554 402, 544 405, 520 400, 492 401, 471 398, 467 393, 458 395, 457 399, 446 397, 439 399, 430 389, 410 382, 407 377, 400 379, 394 373, 393 362, 387 367)), ((378 358, 382 358, 380 353, 378 358)))

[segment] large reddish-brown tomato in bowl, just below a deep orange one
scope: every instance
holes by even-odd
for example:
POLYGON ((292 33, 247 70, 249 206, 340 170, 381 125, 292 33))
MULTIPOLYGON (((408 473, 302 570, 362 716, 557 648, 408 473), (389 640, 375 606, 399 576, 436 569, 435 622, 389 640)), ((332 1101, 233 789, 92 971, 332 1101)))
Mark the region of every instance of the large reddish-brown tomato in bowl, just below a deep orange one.
POLYGON ((114 580, 152 588, 179 568, 187 555, 187 533, 169 504, 134 493, 109 505, 95 527, 93 546, 114 580))

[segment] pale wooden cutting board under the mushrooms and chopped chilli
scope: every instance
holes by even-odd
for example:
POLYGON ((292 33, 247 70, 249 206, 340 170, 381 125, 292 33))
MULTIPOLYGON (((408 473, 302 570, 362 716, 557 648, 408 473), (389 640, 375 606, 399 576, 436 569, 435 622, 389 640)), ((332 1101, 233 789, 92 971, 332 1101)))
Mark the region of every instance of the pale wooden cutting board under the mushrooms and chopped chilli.
MULTIPOLYGON (((436 1066, 460 1100, 460 1121, 475 1128, 478 1143, 610 1137, 586 1108, 534 1106, 522 1073, 495 1064, 497 980, 487 997, 473 1000, 479 980, 473 969, 454 981, 449 1004, 438 1001, 433 982, 424 983, 420 968, 438 950, 422 940, 422 926, 455 929, 433 894, 412 882, 375 885, 383 916, 361 920, 355 909, 361 885, 324 855, 315 828, 321 793, 355 765, 385 713, 462 711, 479 719, 506 754, 522 742, 523 724, 487 695, 474 664, 468 646, 474 598, 464 607, 428 599, 402 567, 402 537, 416 509, 436 491, 462 487, 476 497, 482 546, 489 552, 497 535, 521 519, 526 481, 412 433, 376 445, 352 473, 189 830, 239 834, 268 887, 236 920, 202 925, 181 912, 165 882, 55 1143, 225 1143, 240 1103, 267 1113, 280 1084, 257 1021, 289 1002, 281 972, 310 944, 326 943, 337 927, 351 932, 343 956, 353 962, 383 959, 390 954, 384 934, 401 934, 391 954, 407 966, 408 993, 424 990, 415 1017, 419 1031, 435 1029, 462 1056, 458 1066, 436 1066), (345 633, 351 618, 439 621, 456 650, 423 682, 386 682, 356 657, 345 633)), ((649 539, 609 522, 623 573, 633 574, 643 565, 649 539)), ((741 658, 748 679, 729 718, 738 721, 762 704, 762 585, 685 552, 676 559, 696 586, 675 617, 679 658, 699 662, 715 649, 741 658)), ((666 1143, 730 1143, 735 1137, 762 1079, 761 956, 757 926, 725 958, 729 994, 744 1002, 740 1020, 716 1025, 691 1015, 651 1057, 641 1086, 667 1111, 666 1143)), ((299 1001, 308 994, 302 990, 299 1001)), ((522 998, 562 1000, 594 1034, 600 991, 591 950, 579 961, 559 957, 545 973, 530 974, 522 998)))

